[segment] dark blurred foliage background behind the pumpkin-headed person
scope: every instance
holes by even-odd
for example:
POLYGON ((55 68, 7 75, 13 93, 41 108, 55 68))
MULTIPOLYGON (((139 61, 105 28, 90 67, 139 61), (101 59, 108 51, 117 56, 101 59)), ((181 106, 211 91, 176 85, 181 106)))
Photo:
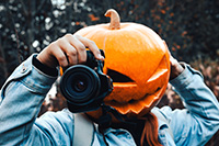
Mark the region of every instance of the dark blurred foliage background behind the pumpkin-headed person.
MULTIPOLYGON (((108 23, 107 9, 122 22, 154 30, 172 55, 201 71, 219 99, 219 0, 0 0, 0 87, 14 68, 53 41, 88 25, 108 23)), ((42 105, 46 111, 66 106, 58 81, 42 105)), ((171 86, 158 106, 183 109, 171 86)), ((216 146, 219 132, 206 146, 216 146)))

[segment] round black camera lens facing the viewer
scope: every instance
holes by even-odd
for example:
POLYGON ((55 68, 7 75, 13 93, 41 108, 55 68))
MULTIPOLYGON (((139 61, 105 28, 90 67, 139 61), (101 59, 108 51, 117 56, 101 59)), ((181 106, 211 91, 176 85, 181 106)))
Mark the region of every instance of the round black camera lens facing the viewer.
POLYGON ((64 97, 72 104, 88 104, 99 94, 100 79, 96 72, 88 66, 69 67, 60 82, 64 97))

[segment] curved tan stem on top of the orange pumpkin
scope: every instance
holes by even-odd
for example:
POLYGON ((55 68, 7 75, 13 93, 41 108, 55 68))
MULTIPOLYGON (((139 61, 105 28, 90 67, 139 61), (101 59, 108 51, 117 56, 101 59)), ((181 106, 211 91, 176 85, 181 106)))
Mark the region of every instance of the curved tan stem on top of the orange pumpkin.
POLYGON ((120 29, 120 18, 114 9, 106 11, 105 16, 111 18, 110 30, 119 30, 120 29))

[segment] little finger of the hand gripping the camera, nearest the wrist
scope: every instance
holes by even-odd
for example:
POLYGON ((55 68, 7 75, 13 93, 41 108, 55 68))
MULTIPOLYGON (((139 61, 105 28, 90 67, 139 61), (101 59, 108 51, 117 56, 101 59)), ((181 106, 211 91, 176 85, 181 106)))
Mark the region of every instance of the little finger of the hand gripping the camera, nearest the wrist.
POLYGON ((68 60, 62 49, 58 45, 53 45, 51 47, 51 54, 58 60, 59 66, 67 67, 68 60))

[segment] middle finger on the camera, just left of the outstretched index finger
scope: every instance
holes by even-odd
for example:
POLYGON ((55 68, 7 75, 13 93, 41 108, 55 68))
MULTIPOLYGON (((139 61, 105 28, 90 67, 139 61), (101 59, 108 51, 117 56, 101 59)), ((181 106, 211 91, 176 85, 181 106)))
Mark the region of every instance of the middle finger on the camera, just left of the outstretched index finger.
POLYGON ((77 49, 77 53, 78 53, 78 63, 79 64, 85 63, 87 61, 85 46, 76 36, 68 37, 68 41, 77 49))

